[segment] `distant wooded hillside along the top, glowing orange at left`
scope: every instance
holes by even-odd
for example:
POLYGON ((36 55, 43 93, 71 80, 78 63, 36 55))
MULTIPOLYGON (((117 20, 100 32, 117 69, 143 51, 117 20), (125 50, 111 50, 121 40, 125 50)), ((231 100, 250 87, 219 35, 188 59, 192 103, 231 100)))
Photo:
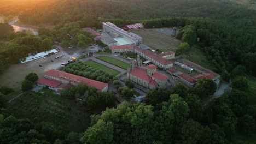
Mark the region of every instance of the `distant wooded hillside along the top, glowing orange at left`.
POLYGON ((26 10, 20 19, 23 22, 59 23, 62 21, 80 21, 86 15, 142 20, 159 17, 213 17, 213 18, 251 18, 255 11, 247 9, 229 0, 56 0, 52 3, 37 5, 26 10), (32 14, 32 15, 31 15, 32 14))

